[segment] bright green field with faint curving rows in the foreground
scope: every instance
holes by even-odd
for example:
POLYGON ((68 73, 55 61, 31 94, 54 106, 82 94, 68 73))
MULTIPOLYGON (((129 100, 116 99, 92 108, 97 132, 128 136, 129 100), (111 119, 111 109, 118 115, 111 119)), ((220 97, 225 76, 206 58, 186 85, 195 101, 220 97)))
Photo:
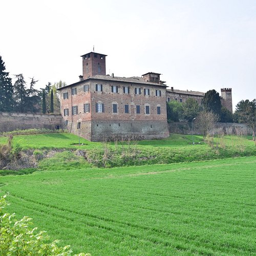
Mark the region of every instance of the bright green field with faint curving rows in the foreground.
POLYGON ((253 254, 256 157, 0 180, 9 212, 93 255, 253 254))

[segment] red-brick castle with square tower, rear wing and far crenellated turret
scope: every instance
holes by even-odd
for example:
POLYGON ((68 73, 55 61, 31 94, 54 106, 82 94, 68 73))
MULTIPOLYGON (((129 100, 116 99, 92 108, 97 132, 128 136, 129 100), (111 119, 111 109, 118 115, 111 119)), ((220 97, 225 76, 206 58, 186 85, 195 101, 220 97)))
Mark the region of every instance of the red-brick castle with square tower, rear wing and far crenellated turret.
MULTIPOLYGON (((166 138, 166 101, 193 97, 201 103, 204 93, 168 90, 159 73, 129 78, 106 75, 106 56, 82 55, 79 81, 58 89, 61 115, 71 133, 91 141, 127 134, 139 139, 166 138)), ((221 92, 225 106, 230 110, 231 102, 232 110, 231 89, 221 92)))

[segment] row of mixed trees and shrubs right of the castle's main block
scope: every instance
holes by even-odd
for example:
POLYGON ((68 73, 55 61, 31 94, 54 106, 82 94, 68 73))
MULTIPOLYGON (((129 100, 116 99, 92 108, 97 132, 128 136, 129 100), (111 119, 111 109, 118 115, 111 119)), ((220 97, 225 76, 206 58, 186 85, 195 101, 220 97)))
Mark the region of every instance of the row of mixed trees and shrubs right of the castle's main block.
POLYGON ((221 105, 221 97, 215 90, 209 90, 204 94, 202 104, 199 104, 193 98, 188 98, 184 103, 176 100, 167 102, 168 122, 191 122, 195 118, 198 122, 205 123, 202 125, 203 127, 207 127, 206 123, 212 124, 214 122, 246 123, 251 127, 253 140, 255 140, 256 99, 252 101, 248 99, 241 100, 236 105, 236 111, 234 113, 231 113, 221 105))

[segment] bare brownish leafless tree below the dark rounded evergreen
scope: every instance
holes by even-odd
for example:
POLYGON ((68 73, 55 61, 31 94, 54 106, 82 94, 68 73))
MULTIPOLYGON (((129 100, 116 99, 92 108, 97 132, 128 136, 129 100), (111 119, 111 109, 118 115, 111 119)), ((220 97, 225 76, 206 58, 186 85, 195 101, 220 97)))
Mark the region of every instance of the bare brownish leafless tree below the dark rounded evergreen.
POLYGON ((214 124, 219 121, 219 115, 208 112, 208 111, 201 111, 195 120, 195 124, 200 129, 201 133, 203 134, 204 138, 209 133, 210 129, 214 127, 214 124))

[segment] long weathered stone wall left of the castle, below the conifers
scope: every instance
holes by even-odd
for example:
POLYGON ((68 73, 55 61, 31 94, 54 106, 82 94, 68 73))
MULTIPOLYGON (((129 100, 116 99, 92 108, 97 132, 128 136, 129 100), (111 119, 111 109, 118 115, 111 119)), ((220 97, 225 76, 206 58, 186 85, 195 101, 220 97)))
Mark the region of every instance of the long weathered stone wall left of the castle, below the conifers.
POLYGON ((54 130, 64 127, 61 115, 0 112, 0 132, 45 128, 54 130))

